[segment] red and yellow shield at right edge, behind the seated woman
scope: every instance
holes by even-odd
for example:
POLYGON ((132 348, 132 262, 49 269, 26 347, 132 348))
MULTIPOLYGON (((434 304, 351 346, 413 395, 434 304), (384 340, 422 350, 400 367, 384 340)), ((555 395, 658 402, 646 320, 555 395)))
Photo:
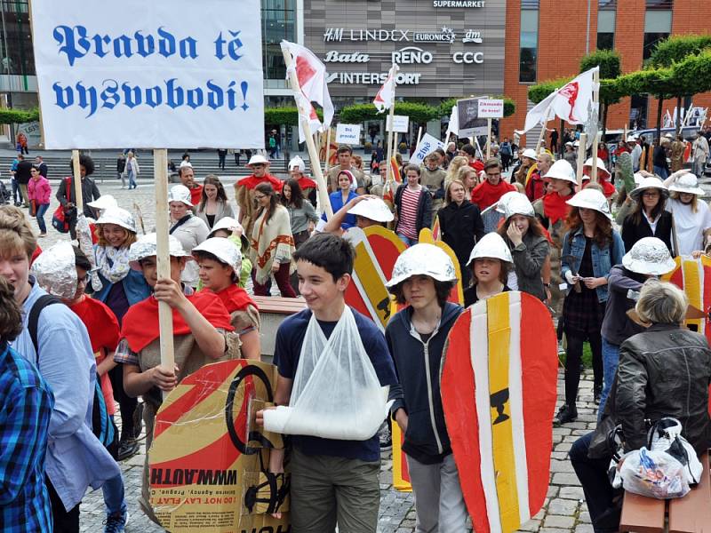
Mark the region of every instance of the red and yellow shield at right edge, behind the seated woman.
MULTIPOLYGON (((662 281, 672 282, 686 293, 689 305, 705 314, 711 307, 711 259, 702 255, 699 259, 675 257, 676 268, 661 276, 662 281), (706 282, 708 276, 709 282, 706 282)), ((711 341, 711 324, 704 318, 687 318, 684 325, 697 331, 711 341)))

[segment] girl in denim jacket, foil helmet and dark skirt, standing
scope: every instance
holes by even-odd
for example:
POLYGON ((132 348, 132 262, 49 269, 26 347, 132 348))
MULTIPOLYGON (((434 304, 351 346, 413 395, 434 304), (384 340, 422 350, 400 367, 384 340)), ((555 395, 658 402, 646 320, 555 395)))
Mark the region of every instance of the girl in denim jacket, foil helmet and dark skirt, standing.
POLYGON ((593 353, 594 400, 603 391, 603 338, 601 329, 608 299, 607 278, 611 267, 625 254, 625 245, 612 229, 610 204, 603 193, 586 188, 574 195, 563 237, 561 274, 571 287, 563 301, 563 330, 568 340, 565 358, 565 403, 555 416, 555 424, 578 418, 576 401, 580 381, 583 342, 593 353))

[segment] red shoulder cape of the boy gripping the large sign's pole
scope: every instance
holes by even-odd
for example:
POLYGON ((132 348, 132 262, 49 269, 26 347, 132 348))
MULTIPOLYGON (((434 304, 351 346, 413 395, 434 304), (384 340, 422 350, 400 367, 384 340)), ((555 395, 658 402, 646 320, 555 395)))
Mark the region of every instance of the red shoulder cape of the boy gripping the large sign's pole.
MULTIPOLYGON (((202 314, 208 322, 215 328, 233 331, 235 328, 230 323, 228 310, 222 305, 220 298, 210 290, 201 290, 191 296, 187 296, 198 313, 202 314)), ((190 328, 182 315, 172 310, 172 334, 188 335, 190 328)), ((158 325, 158 300, 149 296, 143 301, 131 306, 128 313, 124 315, 124 325, 121 329, 121 337, 128 341, 128 346, 132 352, 139 353, 143 348, 160 337, 160 327, 158 325)))

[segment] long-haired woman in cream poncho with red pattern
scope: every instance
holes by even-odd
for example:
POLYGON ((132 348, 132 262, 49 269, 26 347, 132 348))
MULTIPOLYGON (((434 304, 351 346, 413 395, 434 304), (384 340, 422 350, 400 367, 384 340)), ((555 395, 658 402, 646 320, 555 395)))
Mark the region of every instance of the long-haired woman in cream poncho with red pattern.
MULTIPOLYGON (((339 193, 340 194, 340 193, 339 193)), ((289 276, 294 272, 292 254, 296 251, 289 211, 278 202, 274 187, 260 183, 254 187, 257 213, 252 228, 252 282, 255 296, 268 296, 272 274, 284 298, 296 298, 289 276)))

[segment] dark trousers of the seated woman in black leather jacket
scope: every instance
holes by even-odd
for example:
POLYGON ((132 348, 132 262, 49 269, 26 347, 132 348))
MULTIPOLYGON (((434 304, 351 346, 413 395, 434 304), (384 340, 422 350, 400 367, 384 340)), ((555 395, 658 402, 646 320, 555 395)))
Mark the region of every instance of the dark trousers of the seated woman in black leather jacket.
POLYGON ((587 457, 592 438, 592 433, 580 437, 573 442, 568 455, 582 485, 595 533, 612 533, 619 529, 622 491, 613 489, 607 477, 611 457, 601 459, 587 457))

